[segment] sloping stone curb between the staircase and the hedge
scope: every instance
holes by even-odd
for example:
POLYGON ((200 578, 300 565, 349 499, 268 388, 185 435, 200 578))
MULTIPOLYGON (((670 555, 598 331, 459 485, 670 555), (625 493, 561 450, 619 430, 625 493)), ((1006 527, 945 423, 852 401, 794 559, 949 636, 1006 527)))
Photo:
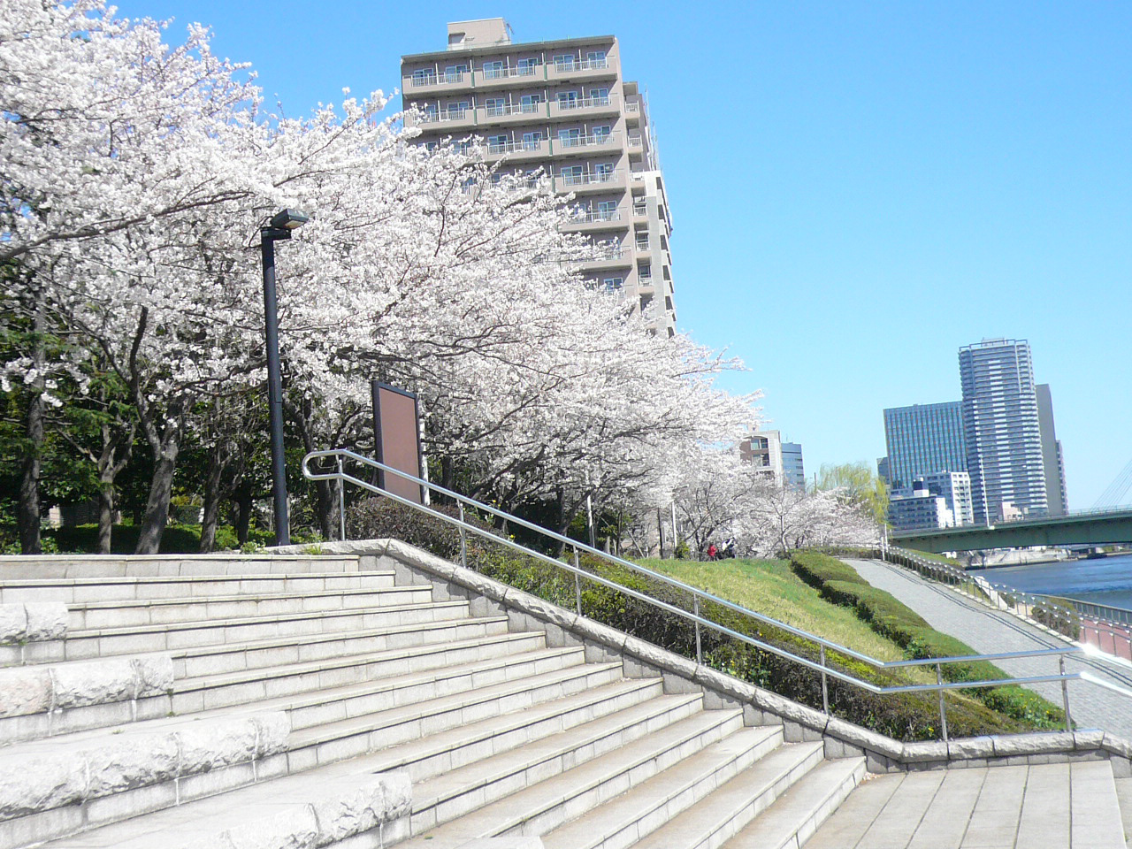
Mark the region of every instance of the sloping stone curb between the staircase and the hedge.
POLYGON ((632 662, 664 676, 666 692, 676 686, 670 680, 675 677, 686 685, 694 685, 705 693, 715 695, 717 701, 721 703, 746 705, 765 714, 762 718, 756 717, 763 722, 783 724, 788 741, 823 739, 827 757, 865 755, 869 772, 985 766, 994 762, 1013 764, 1018 763, 1019 758, 1034 763, 1048 763, 1095 756, 1113 761, 1113 771, 1118 778, 1132 775, 1132 743, 1110 734, 1088 730, 1072 734, 1052 731, 970 737, 952 739, 949 743, 938 740, 902 743, 842 719, 826 717, 821 711, 777 693, 700 666, 693 660, 628 636, 601 623, 580 617, 549 601, 501 584, 400 540, 328 542, 323 543, 323 548, 327 554, 361 556, 365 558, 363 569, 376 568, 379 560, 386 557, 412 571, 423 572, 431 580, 455 584, 520 615, 530 616, 538 623, 556 626, 583 643, 626 655, 632 662))

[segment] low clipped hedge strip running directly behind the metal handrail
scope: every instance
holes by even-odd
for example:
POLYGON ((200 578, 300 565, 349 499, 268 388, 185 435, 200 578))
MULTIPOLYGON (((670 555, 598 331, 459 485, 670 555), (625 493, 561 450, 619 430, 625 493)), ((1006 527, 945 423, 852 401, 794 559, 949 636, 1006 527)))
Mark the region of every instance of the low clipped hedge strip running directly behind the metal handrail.
MULTIPOLYGON (((437 509, 449 513, 447 507, 437 509)), ((458 533, 452 525, 388 499, 374 499, 355 505, 348 515, 348 523, 351 537, 354 537, 355 531, 365 537, 395 537, 440 557, 458 557, 458 533)), ((498 533, 491 531, 489 525, 478 524, 491 533, 498 533)), ((468 565, 509 586, 569 610, 575 608, 574 577, 566 569, 520 556, 471 534, 468 537, 468 565)), ((640 591, 681 610, 692 610, 691 595, 668 583, 589 556, 582 558, 581 565, 586 572, 619 586, 640 591)), ((841 566, 852 573, 852 577, 856 576, 852 569, 841 566)), ((696 657, 695 628, 691 623, 618 590, 583 580, 582 612, 677 654, 696 657)), ((818 660, 818 649, 811 642, 779 628, 760 625, 726 607, 704 604, 701 615, 737 633, 794 654, 818 660)), ((709 628, 702 629, 701 644, 705 664, 821 710, 822 679, 818 672, 709 628)), ((908 683, 907 678, 898 674, 875 670, 851 658, 830 653, 826 660, 832 669, 881 686, 908 683)), ((934 739, 940 735, 938 702, 935 694, 876 696, 834 678, 829 678, 827 683, 830 707, 834 715, 898 739, 934 739)), ((1034 727, 1028 720, 996 712, 969 697, 949 696, 947 700, 949 730, 954 736, 1009 734, 1034 727)))

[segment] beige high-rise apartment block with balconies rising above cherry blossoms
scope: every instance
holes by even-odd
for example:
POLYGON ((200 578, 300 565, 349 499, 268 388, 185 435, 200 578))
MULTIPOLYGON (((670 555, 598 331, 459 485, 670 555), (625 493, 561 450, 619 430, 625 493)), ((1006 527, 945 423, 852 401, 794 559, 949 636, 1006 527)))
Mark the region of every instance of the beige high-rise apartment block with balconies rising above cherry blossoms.
POLYGON ((573 192, 567 229, 601 248, 580 268, 586 283, 676 332, 668 196, 648 102, 621 75, 616 37, 513 44, 503 18, 451 23, 447 49, 402 57, 401 77, 421 144, 477 144, 486 161, 573 192))

